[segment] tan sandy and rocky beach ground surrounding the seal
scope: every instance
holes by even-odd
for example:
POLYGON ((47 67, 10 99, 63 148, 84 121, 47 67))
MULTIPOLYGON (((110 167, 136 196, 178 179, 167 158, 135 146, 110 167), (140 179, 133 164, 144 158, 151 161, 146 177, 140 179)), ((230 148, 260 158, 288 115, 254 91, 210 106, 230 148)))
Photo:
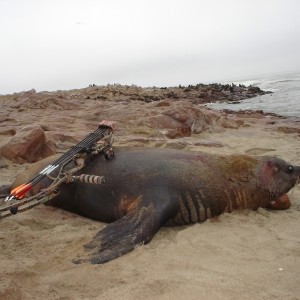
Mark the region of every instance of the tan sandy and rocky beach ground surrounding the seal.
MULTIPOLYGON (((119 124, 115 147, 272 155, 300 164, 297 118, 98 92, 2 96, 0 147, 22 128, 40 126, 47 151, 62 153, 110 119, 119 124)), ((29 164, 2 155, 1 185, 29 164)), ((72 259, 105 223, 38 206, 0 220, 0 299, 300 299, 300 185, 289 196, 286 211, 242 210, 162 228, 149 244, 103 265, 72 259)))

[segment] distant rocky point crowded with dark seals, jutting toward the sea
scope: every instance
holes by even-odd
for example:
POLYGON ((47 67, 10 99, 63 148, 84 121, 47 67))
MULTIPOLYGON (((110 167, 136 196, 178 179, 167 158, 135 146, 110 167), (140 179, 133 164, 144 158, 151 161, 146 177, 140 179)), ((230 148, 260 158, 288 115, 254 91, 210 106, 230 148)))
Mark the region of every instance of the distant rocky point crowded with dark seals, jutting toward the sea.
POLYGON ((85 99, 105 101, 138 100, 146 103, 161 100, 189 100, 195 104, 210 102, 240 101, 270 92, 262 91, 259 87, 235 84, 197 84, 178 87, 149 87, 141 88, 136 85, 122 86, 113 84, 107 86, 90 85, 86 89, 74 90, 72 99, 84 96, 85 99))

